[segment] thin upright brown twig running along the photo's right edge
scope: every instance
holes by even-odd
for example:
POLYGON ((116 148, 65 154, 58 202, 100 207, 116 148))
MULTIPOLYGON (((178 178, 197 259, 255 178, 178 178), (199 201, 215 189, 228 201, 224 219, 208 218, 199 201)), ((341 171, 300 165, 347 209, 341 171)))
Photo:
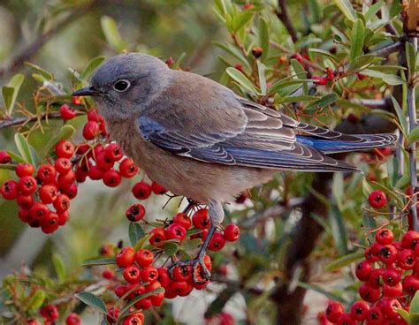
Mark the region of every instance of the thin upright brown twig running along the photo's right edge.
MULTIPOLYGON (((413 45, 415 49, 415 55, 417 52, 417 38, 411 37, 409 42, 413 45)), ((415 67, 412 67, 415 69, 415 67)), ((409 72, 409 83, 408 83, 408 120, 409 120, 409 131, 412 132, 416 125, 416 104, 415 104, 415 72, 409 72)), ((408 152, 409 168, 410 168, 410 186, 412 188, 412 199, 410 205, 410 212, 412 215, 412 227, 414 231, 418 231, 417 224, 417 211, 416 211, 416 202, 417 202, 417 176, 416 176, 416 142, 412 142, 409 145, 408 152)))

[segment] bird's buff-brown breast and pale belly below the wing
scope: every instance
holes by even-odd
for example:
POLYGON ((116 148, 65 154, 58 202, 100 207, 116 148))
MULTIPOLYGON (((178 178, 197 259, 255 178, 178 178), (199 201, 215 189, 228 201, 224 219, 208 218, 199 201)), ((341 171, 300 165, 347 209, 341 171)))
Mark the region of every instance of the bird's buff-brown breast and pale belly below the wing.
POLYGON ((172 155, 144 140, 133 129, 122 132, 121 128, 110 127, 110 133, 149 178, 171 193, 197 202, 232 201, 238 193, 268 182, 278 171, 199 162, 172 155))

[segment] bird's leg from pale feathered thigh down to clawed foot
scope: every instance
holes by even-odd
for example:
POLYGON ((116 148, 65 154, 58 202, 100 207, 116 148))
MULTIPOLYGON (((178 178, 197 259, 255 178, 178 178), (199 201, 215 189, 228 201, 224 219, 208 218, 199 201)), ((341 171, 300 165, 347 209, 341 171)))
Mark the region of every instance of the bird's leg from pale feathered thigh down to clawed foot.
POLYGON ((192 279, 195 284, 206 283, 209 280, 209 278, 211 277, 211 273, 209 272, 209 269, 205 266, 204 257, 207 253, 209 242, 211 241, 211 238, 214 236, 214 233, 216 232, 218 225, 220 225, 223 222, 223 219, 224 210, 221 203, 210 200, 209 221, 211 225, 209 227, 207 237, 202 243, 198 255, 196 256, 196 258, 194 258, 194 260, 178 261, 172 264, 169 268, 169 274, 171 276, 174 268, 192 266, 192 279))

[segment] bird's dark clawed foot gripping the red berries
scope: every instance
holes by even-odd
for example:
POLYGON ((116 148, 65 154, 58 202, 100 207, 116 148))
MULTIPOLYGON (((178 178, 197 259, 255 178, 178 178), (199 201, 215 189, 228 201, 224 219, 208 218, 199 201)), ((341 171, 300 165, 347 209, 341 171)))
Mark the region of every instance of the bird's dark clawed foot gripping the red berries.
POLYGON ((204 256, 198 256, 194 260, 177 261, 168 268, 169 276, 171 276, 172 279, 176 279, 177 276, 185 277, 187 279, 192 273, 192 281, 194 284, 207 283, 211 277, 211 272, 209 270, 210 264, 209 267, 207 267, 204 260, 204 256), (174 274, 176 268, 179 268, 179 270, 177 270, 177 275, 174 274))

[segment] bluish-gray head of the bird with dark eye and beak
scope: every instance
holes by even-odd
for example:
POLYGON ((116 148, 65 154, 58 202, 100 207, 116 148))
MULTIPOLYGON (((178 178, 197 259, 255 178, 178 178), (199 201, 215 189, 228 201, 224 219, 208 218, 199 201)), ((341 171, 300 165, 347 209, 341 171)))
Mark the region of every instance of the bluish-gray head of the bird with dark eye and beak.
POLYGON ((156 57, 120 54, 95 71, 90 87, 72 95, 94 96, 100 113, 109 122, 139 117, 164 89, 170 72, 156 57))

